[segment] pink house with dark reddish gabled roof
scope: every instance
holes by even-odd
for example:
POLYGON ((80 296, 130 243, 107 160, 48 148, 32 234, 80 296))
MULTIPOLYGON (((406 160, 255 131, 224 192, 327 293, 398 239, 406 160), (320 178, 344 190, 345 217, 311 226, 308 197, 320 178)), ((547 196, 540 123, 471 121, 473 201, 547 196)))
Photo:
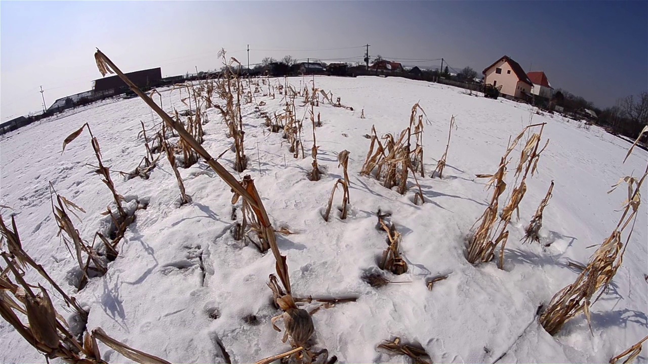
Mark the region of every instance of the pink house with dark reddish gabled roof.
POLYGON ((522 66, 509 56, 503 56, 496 60, 481 74, 484 75, 484 84, 492 84, 495 87, 501 85, 500 93, 503 95, 524 100, 528 100, 531 95, 533 82, 529 80, 522 66))

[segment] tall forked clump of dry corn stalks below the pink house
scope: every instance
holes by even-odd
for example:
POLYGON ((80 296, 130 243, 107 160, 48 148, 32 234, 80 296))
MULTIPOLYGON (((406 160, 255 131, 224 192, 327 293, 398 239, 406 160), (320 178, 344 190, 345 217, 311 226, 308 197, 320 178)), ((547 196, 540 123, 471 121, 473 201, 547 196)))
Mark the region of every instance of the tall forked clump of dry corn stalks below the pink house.
POLYGON ((500 260, 498 267, 503 269, 504 266, 504 247, 509 238, 509 231, 507 227, 511 222, 511 217, 513 217, 513 212, 517 211, 518 219, 520 218, 520 212, 518 206, 520 201, 524 198, 526 194, 526 178, 531 172, 531 176, 536 172, 538 168, 538 161, 540 159, 540 154, 549 144, 549 140, 546 141, 542 150, 538 151, 540 146, 540 140, 542 139, 542 130, 544 129, 544 124, 532 124, 524 128, 522 132, 511 142, 506 150, 506 153, 503 155, 500 160, 500 166, 495 172, 495 174, 478 174, 478 178, 489 178, 487 183, 488 187, 493 187, 493 194, 491 197, 491 202, 486 210, 481 214, 481 217, 475 225, 477 225, 476 230, 469 238, 468 246, 468 255, 467 259, 471 264, 477 264, 478 262, 490 262, 495 257, 495 249, 498 245, 501 244, 500 248, 500 260), (507 187, 505 182, 507 165, 511 162, 509 157, 518 142, 524 135, 527 133, 527 130, 540 126, 540 131, 538 133, 533 133, 527 140, 522 152, 520 153, 520 159, 515 170, 515 182, 513 183, 513 191, 511 195, 505 201, 502 214, 499 216, 498 221, 498 209, 499 201, 504 190, 507 187), (522 177, 522 179, 520 179, 522 177), (497 225, 496 225, 497 224, 497 225))

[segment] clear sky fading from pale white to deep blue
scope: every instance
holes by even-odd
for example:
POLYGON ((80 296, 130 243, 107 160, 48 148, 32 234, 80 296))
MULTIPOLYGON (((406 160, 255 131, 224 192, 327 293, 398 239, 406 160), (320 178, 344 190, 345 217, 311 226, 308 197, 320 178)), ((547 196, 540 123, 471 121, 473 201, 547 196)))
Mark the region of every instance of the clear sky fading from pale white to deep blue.
POLYGON ((480 73, 507 54, 601 108, 648 89, 647 1, 0 1, 0 117, 41 109, 40 85, 47 106, 90 89, 95 47, 170 76, 220 68, 221 47, 256 63, 359 60, 365 43, 480 73))

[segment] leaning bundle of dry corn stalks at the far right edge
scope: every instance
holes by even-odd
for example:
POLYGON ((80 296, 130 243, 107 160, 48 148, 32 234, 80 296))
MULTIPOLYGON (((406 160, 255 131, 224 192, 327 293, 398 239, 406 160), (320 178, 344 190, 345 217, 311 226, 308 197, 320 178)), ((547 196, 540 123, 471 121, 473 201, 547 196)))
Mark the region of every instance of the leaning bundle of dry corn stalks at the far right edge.
POLYGON ((567 321, 570 321, 581 312, 585 313, 590 330, 592 330, 590 306, 601 297, 605 289, 612 282, 619 267, 621 267, 623 253, 625 253, 625 249, 630 241, 634 223, 638 216, 639 205, 641 203, 640 191, 646 176, 648 176, 648 165, 640 179, 623 177, 612 188, 614 190, 621 183, 627 183, 628 185, 628 199, 625 201, 623 209, 621 209, 623 214, 621 214, 621 218, 619 218, 619 222, 614 228, 614 231, 598 247, 592 258, 590 258, 590 262, 578 275, 575 282, 558 291, 551 299, 546 311, 540 316, 540 324, 542 324, 549 334, 557 334, 567 321), (624 244, 621 238, 626 230, 627 237, 624 244), (597 292, 599 293, 596 299, 592 301, 592 298, 597 292))

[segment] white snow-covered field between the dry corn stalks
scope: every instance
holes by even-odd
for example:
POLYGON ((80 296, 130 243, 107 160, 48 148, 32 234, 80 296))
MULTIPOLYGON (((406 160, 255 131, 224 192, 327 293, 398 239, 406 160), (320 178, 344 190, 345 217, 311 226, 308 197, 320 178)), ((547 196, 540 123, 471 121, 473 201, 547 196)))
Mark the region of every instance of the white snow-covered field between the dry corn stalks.
MULTIPOLYGON (((288 82, 297 89, 303 79, 288 82)), ((242 109, 248 170, 242 174, 233 170, 233 152, 224 154, 220 162, 235 176, 251 175, 273 225, 295 233, 278 235, 295 296, 359 297, 357 302, 314 313, 318 347, 327 348, 329 356, 336 355, 342 363, 404 362, 408 359, 403 356, 376 350, 384 339, 400 337, 421 344, 435 363, 497 359, 502 363, 607 363, 647 335, 645 188, 623 266, 610 290, 592 306, 594 335, 581 316, 552 337, 536 316, 538 306, 548 304, 554 293, 577 277, 578 270, 569 263, 586 264, 596 250, 590 245, 600 244, 614 229, 627 190, 607 192, 619 177, 643 172, 646 152, 637 149, 622 164, 630 144, 596 127, 586 130, 574 120, 537 115, 526 104, 465 95, 455 87, 377 77, 316 77, 315 82, 354 108, 324 104, 316 108, 323 122, 316 131, 319 165, 326 170, 320 181, 307 179, 312 162, 310 123, 305 122, 302 134, 307 157, 294 159, 281 134, 264 127, 255 104, 242 109), (412 191, 401 196, 359 174, 369 148, 364 135, 371 126, 378 135, 400 133, 408 126, 416 102, 428 119, 423 137, 428 173, 419 177, 426 203, 421 206, 412 203, 412 191), (366 119, 360 118, 362 109, 366 119), (452 133, 445 176, 432 179, 429 174, 445 150, 452 115, 457 130, 452 133), (498 269, 495 262, 472 266, 465 258, 465 238, 491 196, 485 180, 474 176, 494 173, 509 136, 515 137, 529 122, 547 122, 543 137, 550 144, 540 157, 539 173, 527 179, 520 220, 512 220, 505 269, 498 269), (327 223, 321 213, 334 181, 342 176, 336 158, 342 150, 351 153, 351 210, 347 220, 340 220, 334 209, 327 223), (553 198, 541 231, 544 243, 551 245, 522 245, 524 228, 552 180, 553 198), (376 290, 360 279, 367 271, 379 270, 376 260, 386 247, 386 235, 376 229, 378 209, 391 212, 410 267, 404 275, 388 278, 411 283, 376 290), (426 279, 439 275, 448 279, 428 291, 426 279)), ((267 86, 263 88, 267 92, 267 86)), ((161 94, 167 111, 172 106, 186 109, 178 91, 165 89, 161 94)), ((272 115, 284 107, 281 95, 276 96, 257 94, 256 101, 266 102, 261 109, 272 115)), ((303 113, 298 106, 297 117, 303 113)), ((226 138, 227 127, 218 111, 209 109, 208 114, 211 121, 204 127, 203 146, 220 155, 232 141, 226 138)), ((94 168, 86 165, 97 163, 87 132, 64 154, 62 142, 89 122, 104 164, 131 171, 145 155, 143 139, 137 136, 140 120, 148 128, 159 122, 142 100, 133 98, 97 104, 5 135, 0 142, 0 203, 13 210, 3 209, 3 217, 16 215, 25 249, 90 308, 88 328, 100 326, 110 336, 174 363, 223 362, 220 344, 233 363, 254 362, 288 350, 280 340, 283 332, 275 332, 270 324, 279 313, 270 305, 272 295, 266 286, 275 270, 274 258, 233 240, 230 188, 202 161, 180 169, 192 197, 192 203, 182 207, 166 159, 148 180, 112 174, 120 194, 148 201, 148 209, 137 211, 137 220, 108 273, 75 293, 69 282, 76 263, 56 236, 49 183, 86 210, 82 222, 75 224, 89 241, 105 227, 106 217, 100 213, 111 202, 111 194, 94 168)), ((338 191, 336 205, 340 196, 338 191)), ((27 277, 37 279, 32 272, 27 277)), ((102 353, 106 361, 128 361, 106 347, 102 353)), ((643 348, 638 361, 647 361, 647 353, 643 348)), ((0 362, 45 359, 2 321, 0 362)))

